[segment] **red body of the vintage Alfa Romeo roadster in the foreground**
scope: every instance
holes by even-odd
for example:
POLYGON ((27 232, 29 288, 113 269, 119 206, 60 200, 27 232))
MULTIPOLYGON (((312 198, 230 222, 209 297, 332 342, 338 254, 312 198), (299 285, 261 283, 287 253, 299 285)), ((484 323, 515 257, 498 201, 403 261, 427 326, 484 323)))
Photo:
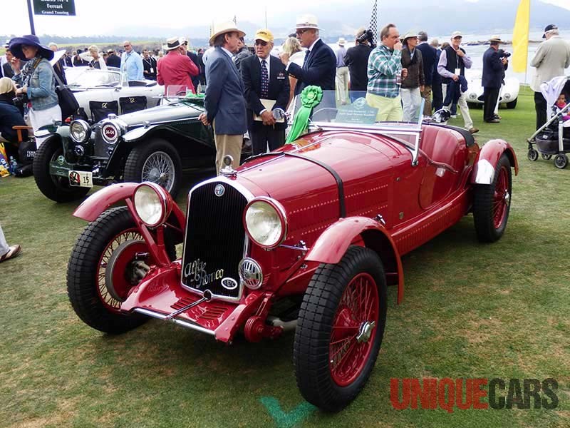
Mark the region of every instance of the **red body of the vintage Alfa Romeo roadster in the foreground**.
MULTIPOLYGON (((517 158, 505 141, 489 141, 480 149, 470 136, 455 128, 424 125, 418 131, 419 150, 414 158, 412 134, 394 136, 390 132, 351 131, 331 126, 309 133, 279 151, 254 158, 237 171, 229 171, 225 176, 196 185, 190 191, 188 218, 175 203, 166 200, 172 212, 162 227, 167 229, 173 225, 178 241, 185 237, 185 254, 182 259, 173 261, 167 254, 160 227, 148 228, 138 216, 133 195, 140 184, 123 183, 98 191, 74 215, 93 222, 107 208, 125 200, 135 221, 135 231, 142 237, 131 250, 123 250, 123 255, 112 260, 117 271, 113 275, 118 278, 115 288, 121 290, 122 301, 108 299, 104 285, 100 284, 98 297, 107 310, 117 314, 138 312, 171 320, 226 343, 231 343, 240 330, 247 340, 258 341, 263 337, 278 336, 288 325, 288 322, 271 316, 276 302, 286 297, 303 296, 319 266, 340 263, 349 248, 356 246, 370 249, 378 255, 385 282, 398 287, 398 302, 401 302, 404 273, 400 257, 470 213, 475 189, 494 185, 497 180, 502 180, 502 188, 497 184, 490 193, 492 208, 489 215, 495 229, 504 230, 510 203, 510 167, 518 172, 517 158), (507 167, 501 167, 501 162, 506 162, 502 161, 504 159, 508 160, 507 167), (212 248, 219 253, 232 253, 232 246, 236 245, 235 242, 241 243, 242 235, 232 237, 232 230, 239 229, 234 214, 227 215, 226 224, 224 215, 208 211, 207 205, 220 199, 217 195, 209 196, 214 185, 222 185, 226 192, 235 191, 243 195, 247 204, 252 200, 265 199, 270 203, 276 201, 277 209, 284 210, 284 240, 276 248, 262 248, 247 234, 244 235, 243 257, 254 260, 261 267, 263 280, 257 289, 244 286, 243 277, 234 278, 238 285, 233 294, 217 285, 226 274, 212 266, 210 259, 217 258, 212 248), (204 190, 206 188, 209 190, 204 190), (209 215, 203 215, 200 221, 203 224, 215 223, 208 230, 207 237, 187 230, 197 228, 197 223, 194 223, 197 215, 193 213, 201 209, 208 211, 209 215), (232 230, 229 230, 230 223, 232 230), (209 248, 204 251, 212 255, 208 256, 207 262, 204 262, 206 258, 192 253, 191 248, 195 244, 191 236, 197 237, 192 238, 195 242, 208 240, 209 248), (124 270, 124 266, 142 250, 149 253, 149 269, 135 285, 125 282, 121 279, 121 269, 124 270), (210 299, 184 310, 204 297, 204 287, 189 287, 185 280, 192 275, 196 278, 197 271, 200 272, 200 284, 205 281, 207 286, 212 285, 212 290, 218 287, 215 290, 222 292, 214 290, 212 296, 208 295, 210 299), (182 312, 169 317, 177 310, 182 312)), ((238 215, 242 228, 245 228, 243 214, 238 215)), ((200 228, 204 229, 203 226, 200 228)), ((363 278, 367 280, 367 277, 363 278)), ((368 292, 366 287, 363 290, 368 292)), ((336 311, 335 319, 338 320, 341 307, 336 311)), ((343 316, 348 328, 351 316, 343 316)), ((340 321, 336 322, 338 327, 340 321)), ((362 323, 360 328, 368 329, 368 336, 365 336, 370 337, 375 325, 376 322, 362 323)), ((104 328, 100 330, 105 331, 104 328)), ((333 339, 331 349, 332 343, 333 339)), ((369 353, 366 350, 358 358, 366 361, 369 353)), ((364 363, 355 364, 363 367, 364 363)), ((356 374, 353 376, 346 372, 349 370, 333 373, 335 387, 344 388, 351 384, 356 374)), ((304 392, 309 401, 330 409, 330 402, 309 395, 304 392)))

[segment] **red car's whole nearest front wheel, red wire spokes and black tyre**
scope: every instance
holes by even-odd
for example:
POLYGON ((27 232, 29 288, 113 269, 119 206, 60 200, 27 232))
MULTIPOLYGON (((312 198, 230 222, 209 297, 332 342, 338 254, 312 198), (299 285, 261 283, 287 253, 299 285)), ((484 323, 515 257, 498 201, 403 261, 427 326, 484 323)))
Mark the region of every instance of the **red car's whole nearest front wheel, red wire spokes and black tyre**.
POLYGON ((386 282, 378 255, 351 247, 323 264, 307 288, 295 333, 297 385, 311 404, 338 412, 361 391, 384 335, 386 282))

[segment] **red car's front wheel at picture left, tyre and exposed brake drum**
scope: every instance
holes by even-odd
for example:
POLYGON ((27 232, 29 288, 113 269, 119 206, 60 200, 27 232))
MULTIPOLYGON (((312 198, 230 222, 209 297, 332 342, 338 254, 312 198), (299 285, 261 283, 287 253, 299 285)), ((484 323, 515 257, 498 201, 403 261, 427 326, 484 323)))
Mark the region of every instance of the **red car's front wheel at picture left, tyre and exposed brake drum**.
MULTIPOLYGON (((166 243, 171 260, 173 243, 166 243)), ((87 325, 106 333, 122 333, 147 320, 125 315, 120 304, 138 285, 154 260, 127 207, 110 208, 78 238, 68 263, 67 291, 73 310, 87 325)))

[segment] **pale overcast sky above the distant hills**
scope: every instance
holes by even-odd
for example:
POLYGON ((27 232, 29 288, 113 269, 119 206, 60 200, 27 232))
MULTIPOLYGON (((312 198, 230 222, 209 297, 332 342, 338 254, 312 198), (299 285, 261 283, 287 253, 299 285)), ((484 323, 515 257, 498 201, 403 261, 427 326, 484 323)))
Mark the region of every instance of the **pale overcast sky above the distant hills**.
MULTIPOLYGON (((456 0, 477 3, 479 0, 456 0)), ((500 4, 500 0, 497 0, 500 4)), ((570 10, 570 0, 540 0, 570 10)), ((351 0, 311 0, 311 10, 322 5, 334 10, 335 5, 346 5, 351 0)), ((370 16, 373 1, 358 1, 364 4, 363 14, 370 16)), ((381 9, 382 0, 378 1, 381 9)), ((179 29, 193 25, 209 24, 212 20, 233 19, 263 23, 265 9, 269 26, 279 20, 279 14, 290 11, 294 4, 301 1, 247 1, 247 0, 75 0, 77 16, 34 16, 36 34, 58 36, 90 36, 95 34, 113 34, 114 29, 152 23, 165 29, 179 29), (143 6, 145 5, 145 6, 143 6), (147 7, 150 6, 152 9, 147 7), (199 13, 199 15, 197 15, 199 13)), ((421 2, 414 4, 416 12, 421 11, 421 2)), ((299 14, 309 12, 299 9, 299 14)), ((2 22, 0 34, 29 34, 28 9, 26 0, 2 0, 2 22)))

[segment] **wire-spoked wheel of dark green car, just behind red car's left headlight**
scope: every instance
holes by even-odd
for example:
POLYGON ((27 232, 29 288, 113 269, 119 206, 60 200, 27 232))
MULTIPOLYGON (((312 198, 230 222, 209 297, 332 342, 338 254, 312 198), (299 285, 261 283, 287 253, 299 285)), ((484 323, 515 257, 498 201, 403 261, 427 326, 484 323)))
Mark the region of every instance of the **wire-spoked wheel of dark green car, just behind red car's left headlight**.
POLYGON ((152 181, 160 184, 170 192, 172 198, 176 198, 182 181, 180 155, 168 141, 151 138, 130 151, 125 162, 124 178, 126 182, 152 181), (153 165, 156 168, 150 168, 153 165), (157 174, 164 175, 158 177, 157 174))

